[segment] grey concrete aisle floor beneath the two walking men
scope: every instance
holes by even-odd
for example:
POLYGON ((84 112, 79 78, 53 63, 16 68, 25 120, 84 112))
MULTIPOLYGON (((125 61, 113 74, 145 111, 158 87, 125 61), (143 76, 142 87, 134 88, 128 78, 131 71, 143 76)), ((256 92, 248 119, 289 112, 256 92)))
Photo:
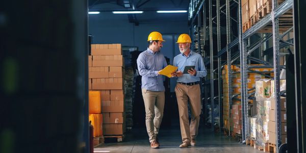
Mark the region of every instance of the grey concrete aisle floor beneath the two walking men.
POLYGON ((199 127, 199 135, 196 138, 196 146, 180 148, 181 141, 180 126, 163 129, 159 134, 160 148, 150 148, 148 136, 143 128, 134 128, 126 133, 123 142, 107 142, 94 148, 94 152, 263 152, 253 147, 239 143, 237 140, 226 138, 215 134, 211 130, 199 127))

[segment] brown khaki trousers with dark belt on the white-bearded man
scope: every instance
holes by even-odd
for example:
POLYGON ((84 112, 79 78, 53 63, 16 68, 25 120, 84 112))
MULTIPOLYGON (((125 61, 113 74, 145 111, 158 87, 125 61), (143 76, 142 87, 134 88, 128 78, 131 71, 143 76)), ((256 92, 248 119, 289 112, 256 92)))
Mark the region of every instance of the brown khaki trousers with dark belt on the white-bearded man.
POLYGON ((201 113, 200 85, 187 86, 176 84, 175 94, 179 106, 180 126, 183 142, 190 142, 198 134, 198 127, 201 113), (191 111, 191 122, 189 124, 188 100, 191 111))

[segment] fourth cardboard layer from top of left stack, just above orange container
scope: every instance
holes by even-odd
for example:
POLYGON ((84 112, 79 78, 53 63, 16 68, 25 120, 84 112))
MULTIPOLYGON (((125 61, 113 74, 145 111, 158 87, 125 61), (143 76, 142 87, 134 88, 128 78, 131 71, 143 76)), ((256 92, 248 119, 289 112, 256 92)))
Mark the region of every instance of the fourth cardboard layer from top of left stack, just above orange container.
POLYGON ((123 89, 123 79, 122 78, 92 79, 92 89, 121 90, 123 89))

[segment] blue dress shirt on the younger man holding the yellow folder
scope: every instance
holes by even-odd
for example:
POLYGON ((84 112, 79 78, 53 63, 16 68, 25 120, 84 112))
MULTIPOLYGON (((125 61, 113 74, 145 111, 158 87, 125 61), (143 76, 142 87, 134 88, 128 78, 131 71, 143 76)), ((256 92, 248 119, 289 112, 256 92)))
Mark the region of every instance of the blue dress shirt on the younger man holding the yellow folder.
POLYGON ((158 71, 167 66, 167 62, 162 53, 147 50, 140 53, 137 58, 137 66, 141 78, 141 88, 151 91, 165 91, 163 75, 158 71))

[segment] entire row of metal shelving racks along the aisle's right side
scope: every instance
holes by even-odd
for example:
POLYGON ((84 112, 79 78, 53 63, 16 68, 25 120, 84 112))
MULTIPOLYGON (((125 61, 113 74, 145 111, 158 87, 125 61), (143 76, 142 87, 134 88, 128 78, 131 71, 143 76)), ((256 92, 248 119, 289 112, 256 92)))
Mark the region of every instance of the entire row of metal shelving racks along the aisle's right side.
MULTIPOLYGON (((225 4, 220 4, 224 3, 224 1, 217 0, 216 5, 212 4, 212 0, 207 1, 201 1, 200 5, 198 5, 197 10, 203 10, 202 12, 202 19, 203 19, 203 27, 206 30, 209 31, 209 34, 203 36, 203 40, 209 40, 209 49, 205 47, 205 50, 203 50, 203 55, 207 55, 209 53, 209 56, 203 56, 205 59, 205 64, 206 66, 210 66, 210 71, 208 72, 208 75, 210 75, 209 80, 205 80, 203 82, 203 100, 205 101, 205 106, 207 104, 211 104, 211 109, 213 110, 214 108, 214 99, 217 98, 217 102, 219 104, 219 124, 220 127, 223 127, 224 125, 222 124, 222 80, 221 80, 221 69, 222 66, 227 64, 227 65, 234 65, 234 63, 238 60, 240 60, 240 63, 237 65, 240 67, 240 73, 241 73, 241 99, 237 98, 238 95, 232 95, 231 90, 228 91, 228 95, 226 96, 228 98, 228 110, 231 109, 231 104, 233 99, 239 99, 241 100, 241 105, 242 105, 242 141, 245 141, 246 138, 249 136, 248 131, 247 131, 247 117, 248 117, 248 109, 249 109, 249 104, 248 104, 248 99, 254 99, 253 95, 254 93, 248 93, 247 90, 247 73, 260 73, 259 71, 251 71, 251 68, 273 68, 274 72, 274 80, 275 80, 275 91, 276 93, 276 123, 277 123, 277 128, 276 128, 276 139, 277 139, 277 144, 276 148, 278 150, 279 146, 282 144, 281 142, 281 126, 279 124, 280 120, 280 112, 279 112, 279 99, 281 96, 280 89, 279 89, 279 84, 280 84, 280 71, 281 69, 284 69, 286 66, 285 65, 279 65, 279 57, 281 56, 279 53, 279 49, 284 48, 288 45, 293 45, 293 39, 289 39, 287 41, 282 40, 282 38, 287 35, 289 32, 293 30, 292 28, 288 28, 287 31, 285 31, 283 34, 279 34, 279 25, 278 25, 278 18, 281 17, 284 13, 288 12, 293 8, 293 0, 287 0, 283 2, 281 5, 277 6, 277 0, 272 1, 272 11, 261 18, 257 23, 252 25, 251 28, 249 28, 247 31, 244 33, 242 32, 242 10, 241 10, 241 0, 235 1, 235 0, 226 0, 225 4), (208 6, 207 6, 208 5, 208 6), (216 16, 212 16, 212 12, 215 11, 213 7, 216 7, 216 16), (224 12, 224 7, 225 7, 225 12, 224 12), (209 14, 207 15, 206 9, 208 8, 209 14), (231 14, 232 9, 237 9, 237 14, 231 14), (221 43, 221 14, 226 15, 226 45, 222 47, 221 43), (209 25, 207 26, 206 21, 209 19, 209 25), (216 19, 216 20, 215 20, 216 19), (259 32, 260 30, 264 29, 267 27, 268 24, 272 22, 272 32, 267 33, 267 34, 261 34, 261 38, 252 43, 250 42, 250 37, 259 32), (215 42, 217 46, 217 67, 214 69, 214 47, 213 47, 213 26, 212 24, 216 24, 216 31, 217 31, 217 41, 215 42), (233 24, 237 24, 238 26, 238 35, 235 35, 235 32, 231 30, 231 27, 233 24), (235 38, 235 39, 234 39, 235 38), (251 53, 256 51, 259 47, 261 47, 263 44, 265 44, 269 39, 273 39, 273 47, 268 48, 265 50, 265 52, 269 52, 273 49, 273 63, 268 62, 264 60, 264 58, 256 58, 251 56, 251 53), (238 49, 236 49, 238 48, 238 49), (232 50, 234 49, 234 50, 232 50), (235 52, 235 50, 238 50, 238 52, 235 52), (226 60, 222 59, 225 57, 226 53, 226 60), (223 62, 223 63, 222 63, 223 62), (260 63, 263 65, 258 65, 258 66, 250 66, 248 65, 250 62, 256 62, 260 63), (218 73, 218 78, 214 78, 214 73, 217 71, 218 73), (218 80, 218 93, 219 96, 216 96, 214 93, 214 80, 218 80), (207 86, 210 85, 210 88, 207 86), (210 89, 210 91, 208 91, 210 89), (209 99, 211 99, 209 103, 209 99)), ((196 7, 195 7, 196 8, 196 7)), ((195 18, 197 19, 197 23, 201 23, 200 21, 200 15, 201 11, 196 11, 193 12, 194 14, 190 14, 190 21, 191 25, 193 25, 195 18)), ((199 26, 200 27, 200 26, 199 26)), ((191 33, 192 34, 192 33, 191 33)), ((205 44, 208 45, 208 44, 205 44)), ((263 49, 261 49, 261 54, 263 53, 263 49)), ((216 64, 215 64, 216 65, 216 64)), ((232 70, 231 66, 227 66, 227 81, 228 81, 228 89, 232 88, 231 84, 231 75, 232 75, 232 70)), ((266 75, 266 77, 271 77, 269 75, 266 75)), ((224 96, 224 95, 223 95, 224 96)), ((204 108, 204 107, 203 107, 204 108)), ((212 121, 214 120, 214 113, 212 112, 211 119, 212 121)), ((228 116, 230 116, 230 111, 228 111, 228 116)), ((213 127, 213 126, 212 126, 213 127)), ((220 128, 221 130, 221 128, 220 128)), ((228 131, 228 135, 231 136, 231 130, 228 131)), ((283 142, 284 143, 284 142, 283 142)))

